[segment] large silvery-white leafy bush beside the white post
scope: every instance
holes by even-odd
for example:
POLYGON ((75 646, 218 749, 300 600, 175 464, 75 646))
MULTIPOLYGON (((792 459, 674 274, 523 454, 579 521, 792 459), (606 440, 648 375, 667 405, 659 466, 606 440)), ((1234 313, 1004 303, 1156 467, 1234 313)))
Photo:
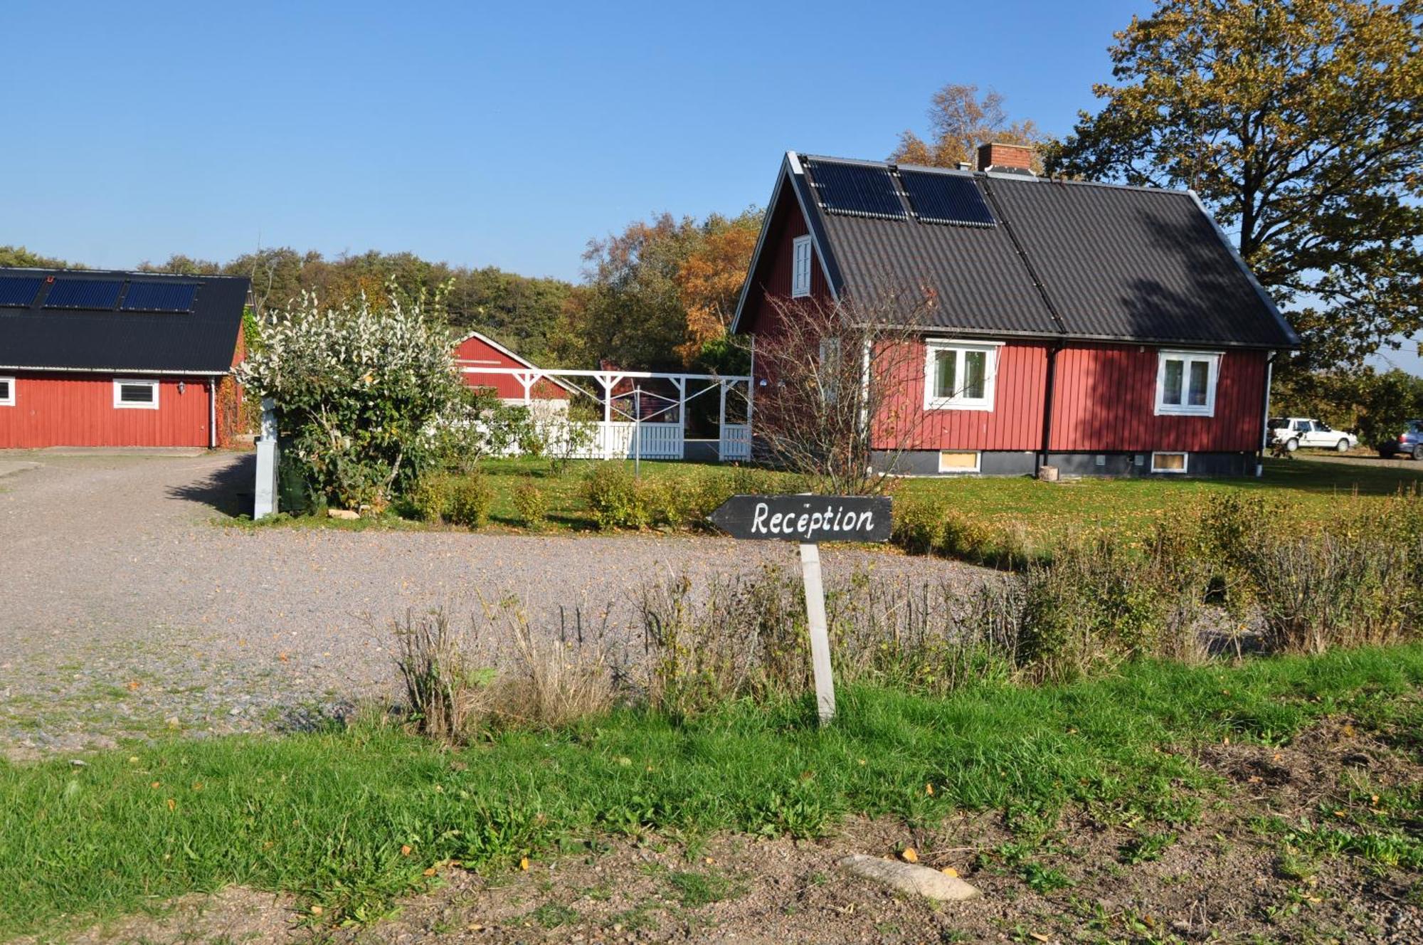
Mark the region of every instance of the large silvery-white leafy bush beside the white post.
POLYGON ((480 443, 491 424, 478 418, 490 397, 460 380, 440 296, 427 306, 387 295, 384 306, 361 296, 342 309, 303 295, 268 319, 262 350, 238 370, 276 403, 283 461, 313 495, 346 508, 384 508, 451 451, 488 453, 480 443))

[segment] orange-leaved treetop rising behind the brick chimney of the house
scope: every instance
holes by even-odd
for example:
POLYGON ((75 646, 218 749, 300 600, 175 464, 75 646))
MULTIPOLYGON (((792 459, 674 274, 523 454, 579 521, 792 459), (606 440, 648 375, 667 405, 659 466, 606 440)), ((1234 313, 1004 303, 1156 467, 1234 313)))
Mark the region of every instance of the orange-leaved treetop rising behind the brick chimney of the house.
POLYGON ((1003 95, 992 88, 979 94, 978 85, 948 84, 929 100, 929 139, 914 131, 899 132, 899 147, 889 159, 932 168, 972 164, 978 147, 988 141, 1039 144, 1043 134, 1029 120, 1009 121, 1003 95))

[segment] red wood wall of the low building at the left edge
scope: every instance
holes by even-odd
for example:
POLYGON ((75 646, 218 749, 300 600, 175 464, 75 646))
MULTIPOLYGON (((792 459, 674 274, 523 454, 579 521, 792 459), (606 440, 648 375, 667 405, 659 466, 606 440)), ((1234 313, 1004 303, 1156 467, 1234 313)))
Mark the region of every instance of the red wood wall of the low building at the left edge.
POLYGON ((114 377, 17 373, 0 448, 208 445, 208 379, 159 379, 158 410, 135 410, 114 407, 114 377))

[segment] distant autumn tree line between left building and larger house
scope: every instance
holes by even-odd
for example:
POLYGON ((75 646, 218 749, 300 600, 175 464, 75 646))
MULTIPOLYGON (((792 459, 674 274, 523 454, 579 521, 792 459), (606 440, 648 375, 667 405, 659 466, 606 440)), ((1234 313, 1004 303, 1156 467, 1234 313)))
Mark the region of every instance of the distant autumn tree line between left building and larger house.
MULTIPOLYGON (((713 213, 697 221, 663 213, 589 241, 585 280, 521 276, 430 262, 414 253, 323 256, 290 248, 260 249, 219 263, 174 255, 139 272, 231 275, 252 279, 252 315, 313 293, 323 306, 354 305, 361 293, 384 306, 391 286, 416 296, 444 287, 451 329, 478 330, 535 364, 598 367, 717 367, 736 361, 726 330, 761 226, 761 211, 713 213)), ((81 263, 0 246, 0 266, 81 269, 81 263)))

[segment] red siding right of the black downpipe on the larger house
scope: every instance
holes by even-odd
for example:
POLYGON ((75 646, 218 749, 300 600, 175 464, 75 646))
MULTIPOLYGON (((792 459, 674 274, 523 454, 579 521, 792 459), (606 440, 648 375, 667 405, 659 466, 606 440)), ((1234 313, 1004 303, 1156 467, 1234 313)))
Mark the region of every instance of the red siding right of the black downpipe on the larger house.
POLYGON ((1074 344, 1057 354, 1052 450, 1062 453, 1259 448, 1265 353, 1225 352, 1214 417, 1155 416, 1160 349, 1074 344))

